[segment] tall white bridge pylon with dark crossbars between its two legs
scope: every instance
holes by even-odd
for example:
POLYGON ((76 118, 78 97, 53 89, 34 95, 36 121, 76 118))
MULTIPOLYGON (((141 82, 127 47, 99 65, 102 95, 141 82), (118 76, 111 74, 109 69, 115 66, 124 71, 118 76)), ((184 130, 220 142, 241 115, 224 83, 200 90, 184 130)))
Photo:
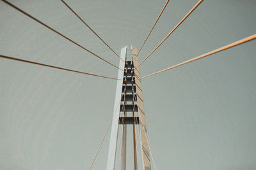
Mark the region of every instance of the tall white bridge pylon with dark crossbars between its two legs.
POLYGON ((107 170, 122 169, 127 167, 127 126, 133 126, 133 155, 134 155, 134 170, 138 170, 138 160, 141 160, 143 170, 150 170, 150 154, 147 143, 147 128, 145 122, 145 112, 143 106, 143 96, 140 80, 140 68, 138 57, 132 62, 133 57, 137 55, 137 49, 131 46, 131 56, 127 56, 127 46, 122 48, 119 67, 124 71, 118 71, 115 107, 113 122, 111 127, 111 137, 109 143, 108 164, 107 170), (130 59, 129 59, 130 58, 130 59), (118 111, 118 113, 116 113, 118 111), (140 131, 136 131, 136 127, 140 131), (122 136, 118 136, 118 131, 122 131, 122 136), (139 134, 138 134, 139 133, 139 134), (139 139, 138 136, 140 136, 139 139), (120 167, 115 167, 116 161, 119 160, 118 155, 118 139, 120 143, 120 167), (136 142, 137 141, 137 142, 136 142), (138 147, 137 147, 138 146, 138 147), (138 150, 138 148, 140 150, 138 150), (140 155, 138 154, 140 153, 140 155), (141 157, 141 159, 138 159, 141 157))

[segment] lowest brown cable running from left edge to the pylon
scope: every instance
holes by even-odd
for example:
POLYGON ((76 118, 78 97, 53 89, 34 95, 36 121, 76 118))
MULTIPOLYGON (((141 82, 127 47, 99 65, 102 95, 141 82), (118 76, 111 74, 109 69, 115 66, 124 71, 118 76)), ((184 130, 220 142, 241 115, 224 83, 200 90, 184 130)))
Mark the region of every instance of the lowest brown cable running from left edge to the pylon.
POLYGON ((62 69, 62 70, 65 70, 65 71, 72 71, 72 72, 75 72, 75 73, 87 74, 87 75, 90 75, 90 76, 97 76, 97 77, 108 78, 108 79, 112 79, 112 80, 122 80, 122 79, 118 79, 118 78, 111 78, 111 77, 108 77, 108 76, 100 76, 98 74, 92 74, 92 73, 86 73, 86 72, 76 71, 76 70, 72 70, 72 69, 66 69, 66 68, 63 68, 63 67, 51 66, 51 65, 48 65, 48 64, 40 63, 40 62, 33 62, 31 60, 18 59, 18 58, 9 57, 9 56, 6 56, 6 55, 0 55, 0 57, 2 57, 4 59, 18 60, 20 62, 27 62, 27 63, 30 63, 30 64, 36 64, 36 65, 40 65, 40 66, 51 67, 51 68, 54 68, 54 69, 62 69))

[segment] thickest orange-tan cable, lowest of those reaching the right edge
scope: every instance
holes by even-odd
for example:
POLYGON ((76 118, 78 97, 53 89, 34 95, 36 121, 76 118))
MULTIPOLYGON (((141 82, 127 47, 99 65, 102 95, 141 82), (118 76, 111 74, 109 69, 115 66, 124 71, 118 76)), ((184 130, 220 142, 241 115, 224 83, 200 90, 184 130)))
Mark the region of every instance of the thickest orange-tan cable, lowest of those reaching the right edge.
POLYGON ((255 39, 255 38, 256 38, 256 34, 253 34, 252 36, 248 36, 248 37, 246 37, 246 38, 240 39, 239 41, 236 41, 236 42, 234 42, 234 43, 231 43, 231 44, 229 44, 229 45, 222 46, 221 48, 218 48, 218 49, 213 50, 213 51, 211 51, 211 52, 204 53, 203 55, 200 55, 200 56, 195 57, 195 58, 193 58, 193 59, 186 60, 186 61, 184 61, 184 62, 181 62, 180 64, 176 64, 175 66, 168 67, 168 68, 166 68, 166 69, 163 69, 163 70, 161 70, 161 71, 157 71, 156 73, 152 73, 152 74, 149 74, 149 75, 147 75, 147 76, 143 76, 143 77, 141 77, 140 79, 146 78, 146 77, 148 77, 148 76, 153 76, 154 74, 162 73, 162 72, 164 72, 164 71, 167 71, 167 70, 169 70, 169 69, 173 69, 173 68, 175 68, 175 67, 182 66, 182 65, 184 65, 184 64, 188 64, 189 62, 193 62, 193 61, 195 61, 195 60, 198 60, 198 59, 202 59, 202 58, 204 58, 204 57, 207 57, 208 55, 212 55, 212 54, 214 54, 214 53, 218 53, 218 52, 221 52, 221 51, 223 51, 223 50, 227 50, 228 48, 231 48, 231 47, 234 47, 234 46, 237 46, 237 45, 241 45, 241 44, 246 43, 246 42, 248 42, 248 41, 251 41, 251 40, 253 40, 253 39, 255 39))

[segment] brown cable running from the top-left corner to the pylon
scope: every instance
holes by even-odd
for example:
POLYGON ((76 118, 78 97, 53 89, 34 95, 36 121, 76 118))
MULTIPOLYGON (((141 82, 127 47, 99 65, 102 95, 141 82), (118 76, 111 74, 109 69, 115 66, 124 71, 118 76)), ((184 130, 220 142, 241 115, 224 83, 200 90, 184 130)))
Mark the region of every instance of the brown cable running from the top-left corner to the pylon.
MULTIPOLYGON (((57 34, 59 34, 59 35, 62 36, 63 38, 67 39, 68 41, 74 43, 75 45, 77 45, 77 46, 79 46, 79 47, 81 47, 81 48, 83 48, 83 49, 86 50, 87 52, 92 53, 92 55, 94 55, 95 57, 98 57, 99 59, 104 60, 104 62, 107 62, 107 63, 110 64, 111 66, 116 67, 117 69, 120 69, 119 67, 115 66, 115 65, 112 64, 111 62, 108 62, 107 60, 103 59, 102 57, 99 57, 99 55, 97 55, 97 54, 91 52, 90 50, 88 50, 88 49, 85 48, 84 46, 79 45, 78 43, 76 43, 76 42, 73 41, 72 39, 67 38, 67 36, 64 36, 63 34, 61 34, 60 32, 56 31, 55 29, 52 29, 52 27, 49 27, 48 25, 44 24, 44 23, 41 22, 40 20, 36 19, 35 17, 32 17, 31 15, 29 15, 29 14, 26 13, 25 11, 21 10, 20 8, 18 8, 18 7, 15 6, 14 4, 9 3, 9 2, 6 1, 6 0, 1 0, 1 1, 3 1, 4 3, 6 3, 6 4, 12 6, 12 8, 15 8, 15 10, 20 11, 20 12, 23 13, 24 15, 27 15, 29 18, 35 20, 36 22, 38 22, 38 23, 44 25, 45 27, 47 27, 47 28, 50 29, 51 31, 53 31, 53 32, 55 32, 55 33, 57 33, 57 34)), ((120 69, 120 70, 124 71, 123 69, 120 69)))

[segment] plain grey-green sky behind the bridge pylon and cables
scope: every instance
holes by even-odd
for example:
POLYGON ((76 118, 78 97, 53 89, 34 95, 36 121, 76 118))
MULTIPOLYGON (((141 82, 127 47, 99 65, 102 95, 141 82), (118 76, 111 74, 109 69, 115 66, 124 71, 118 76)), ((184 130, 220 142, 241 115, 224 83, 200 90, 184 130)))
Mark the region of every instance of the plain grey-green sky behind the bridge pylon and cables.
MULTIPOLYGON (((10 1, 98 55, 118 58, 61 1, 10 1)), ((140 53, 196 4, 172 0, 140 53)), ((165 0, 67 3, 120 53, 140 48, 165 0)), ((256 1, 204 1, 141 65, 144 76, 256 31, 256 1)), ((158 169, 256 169, 256 41, 142 81, 158 169)), ((0 2, 0 53, 106 76, 117 69, 0 2)), ((115 80, 0 59, 0 169, 88 169, 113 114, 115 80)), ((105 169, 109 134, 93 169, 105 169)))

